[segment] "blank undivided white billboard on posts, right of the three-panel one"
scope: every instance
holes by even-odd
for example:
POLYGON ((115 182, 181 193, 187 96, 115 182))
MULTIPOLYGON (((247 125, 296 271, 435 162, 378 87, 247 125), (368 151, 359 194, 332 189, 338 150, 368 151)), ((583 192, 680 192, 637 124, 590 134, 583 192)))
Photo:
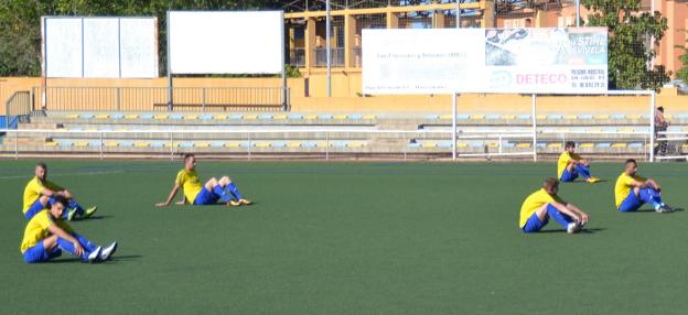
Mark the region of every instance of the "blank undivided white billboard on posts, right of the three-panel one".
POLYGON ((281 11, 170 11, 171 73, 281 73, 282 15, 281 11))

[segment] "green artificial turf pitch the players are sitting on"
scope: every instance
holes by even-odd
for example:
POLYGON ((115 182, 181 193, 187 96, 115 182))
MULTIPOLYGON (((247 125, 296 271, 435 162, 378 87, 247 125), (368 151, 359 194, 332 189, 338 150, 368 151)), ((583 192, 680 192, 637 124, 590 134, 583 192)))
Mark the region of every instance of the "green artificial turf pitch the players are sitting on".
MULTIPOLYGON (((619 214, 620 163, 560 196, 587 232, 517 227, 553 163, 249 163, 198 161, 256 205, 155 208, 180 162, 49 161, 49 177, 118 240, 114 261, 67 253, 25 264, 24 184, 35 161, 0 161, 2 314, 685 314, 688 213, 619 214)), ((665 200, 688 206, 686 164, 641 164, 665 200)), ((645 207, 647 208, 647 207, 645 207)))

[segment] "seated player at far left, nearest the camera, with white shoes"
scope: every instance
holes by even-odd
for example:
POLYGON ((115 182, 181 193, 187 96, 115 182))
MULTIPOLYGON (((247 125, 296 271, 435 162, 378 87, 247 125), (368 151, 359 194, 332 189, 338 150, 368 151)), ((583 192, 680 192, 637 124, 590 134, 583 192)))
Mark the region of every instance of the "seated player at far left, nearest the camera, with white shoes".
POLYGON ((49 261, 60 257, 63 250, 88 262, 106 261, 112 257, 117 242, 101 248, 74 232, 62 220, 67 205, 67 199, 57 195, 50 209, 39 211, 29 220, 21 243, 21 252, 28 263, 49 261))

